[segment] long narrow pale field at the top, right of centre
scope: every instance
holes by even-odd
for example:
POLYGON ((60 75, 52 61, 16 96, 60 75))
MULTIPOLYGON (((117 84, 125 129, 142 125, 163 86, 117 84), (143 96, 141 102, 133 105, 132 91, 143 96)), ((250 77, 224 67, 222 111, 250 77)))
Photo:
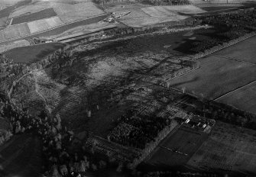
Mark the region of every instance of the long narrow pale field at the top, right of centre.
POLYGON ((151 17, 173 16, 175 14, 197 14, 205 12, 194 5, 171 5, 171 6, 153 6, 141 8, 151 17))

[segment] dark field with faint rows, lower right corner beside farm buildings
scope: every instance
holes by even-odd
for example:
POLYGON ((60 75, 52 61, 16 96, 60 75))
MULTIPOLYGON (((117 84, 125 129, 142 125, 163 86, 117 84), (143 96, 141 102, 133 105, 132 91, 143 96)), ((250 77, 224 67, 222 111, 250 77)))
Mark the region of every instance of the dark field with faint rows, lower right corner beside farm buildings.
MULTIPOLYGON (((196 169, 256 174, 256 131, 217 122, 209 139, 187 163, 196 169)), ((238 175, 238 174, 237 174, 238 175)), ((241 176, 241 175, 238 175, 241 176)))

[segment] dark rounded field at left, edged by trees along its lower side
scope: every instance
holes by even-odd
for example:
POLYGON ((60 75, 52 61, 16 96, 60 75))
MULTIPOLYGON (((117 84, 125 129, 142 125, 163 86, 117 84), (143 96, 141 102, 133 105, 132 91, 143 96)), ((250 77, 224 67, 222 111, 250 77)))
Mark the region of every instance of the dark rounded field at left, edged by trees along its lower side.
POLYGON ((33 63, 58 50, 60 47, 63 47, 62 43, 44 43, 8 50, 5 55, 12 59, 14 63, 33 63))

